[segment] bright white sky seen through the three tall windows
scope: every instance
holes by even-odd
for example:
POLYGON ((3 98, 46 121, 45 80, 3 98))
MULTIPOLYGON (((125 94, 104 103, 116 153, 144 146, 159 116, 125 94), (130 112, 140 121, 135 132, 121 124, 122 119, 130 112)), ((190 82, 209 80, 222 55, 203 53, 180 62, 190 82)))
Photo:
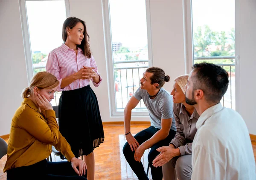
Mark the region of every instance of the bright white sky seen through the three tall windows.
MULTIPOLYGON (((129 48, 146 46, 145 0, 109 3, 112 42, 129 48)), ((67 18, 64 0, 26 1, 26 9, 32 51, 49 53, 61 46, 62 25, 67 18)), ((194 29, 207 24, 214 31, 230 31, 235 27, 235 0, 192 0, 192 16, 194 29)))

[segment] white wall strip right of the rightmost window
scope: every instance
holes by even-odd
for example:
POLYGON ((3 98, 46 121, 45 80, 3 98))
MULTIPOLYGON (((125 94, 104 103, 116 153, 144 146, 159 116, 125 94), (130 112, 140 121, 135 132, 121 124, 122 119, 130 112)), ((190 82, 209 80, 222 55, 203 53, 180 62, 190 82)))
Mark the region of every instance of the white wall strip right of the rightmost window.
MULTIPOLYGON (((256 1, 236 0, 236 55, 240 55, 239 112, 256 134, 256 1)), ((239 131, 239 129, 238 129, 239 131)))

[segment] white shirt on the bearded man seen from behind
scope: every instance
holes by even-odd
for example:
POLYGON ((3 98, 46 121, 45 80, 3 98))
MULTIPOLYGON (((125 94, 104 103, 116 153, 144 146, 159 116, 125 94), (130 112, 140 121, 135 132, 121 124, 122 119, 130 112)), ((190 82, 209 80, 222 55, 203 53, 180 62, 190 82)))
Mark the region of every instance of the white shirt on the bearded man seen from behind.
POLYGON ((210 107, 199 117, 192 144, 192 180, 256 180, 249 132, 236 111, 210 107))

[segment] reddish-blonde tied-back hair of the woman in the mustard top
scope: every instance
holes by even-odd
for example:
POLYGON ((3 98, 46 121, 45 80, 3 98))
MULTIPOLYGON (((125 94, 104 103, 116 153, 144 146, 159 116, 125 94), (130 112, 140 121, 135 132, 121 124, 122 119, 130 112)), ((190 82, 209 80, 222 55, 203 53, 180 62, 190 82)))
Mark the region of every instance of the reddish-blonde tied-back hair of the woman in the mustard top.
POLYGON ((32 78, 29 87, 23 89, 21 97, 29 97, 35 87, 39 89, 52 89, 58 86, 57 78, 47 71, 38 72, 32 78))

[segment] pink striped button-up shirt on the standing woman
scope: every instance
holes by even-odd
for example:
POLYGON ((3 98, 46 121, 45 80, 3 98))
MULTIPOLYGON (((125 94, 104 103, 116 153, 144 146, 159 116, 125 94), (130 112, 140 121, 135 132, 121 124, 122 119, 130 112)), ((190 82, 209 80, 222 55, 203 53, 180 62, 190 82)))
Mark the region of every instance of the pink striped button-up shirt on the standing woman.
MULTIPOLYGON (((49 55, 46 64, 46 71, 53 74, 60 81, 57 91, 69 91, 74 89, 79 89, 84 86, 87 86, 90 83, 90 80, 75 80, 73 83, 61 89, 62 79, 78 72, 80 69, 86 67, 94 67, 93 69, 98 75, 98 68, 93 56, 89 59, 84 56, 83 51, 78 48, 77 56, 76 52, 73 49, 70 49, 67 45, 62 44, 60 47, 53 49, 49 55)), ((99 83, 92 83, 95 87, 98 87, 102 81, 101 76, 99 75, 99 83)))

